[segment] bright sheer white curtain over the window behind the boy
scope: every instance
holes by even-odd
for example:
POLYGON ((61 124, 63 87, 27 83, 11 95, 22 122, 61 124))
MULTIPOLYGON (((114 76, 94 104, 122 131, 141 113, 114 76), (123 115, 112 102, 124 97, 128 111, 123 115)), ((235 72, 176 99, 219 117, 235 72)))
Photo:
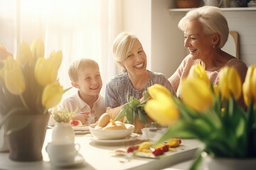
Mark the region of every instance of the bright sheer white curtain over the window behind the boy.
MULTIPOLYGON (((71 86, 68 67, 74 60, 92 58, 100 65, 102 96, 116 73, 112 42, 122 30, 122 1, 119 0, 0 0, 0 44, 16 55, 17 45, 34 38, 45 42, 46 57, 62 50, 58 79, 71 86)), ((71 89, 63 99, 73 94, 71 89)))

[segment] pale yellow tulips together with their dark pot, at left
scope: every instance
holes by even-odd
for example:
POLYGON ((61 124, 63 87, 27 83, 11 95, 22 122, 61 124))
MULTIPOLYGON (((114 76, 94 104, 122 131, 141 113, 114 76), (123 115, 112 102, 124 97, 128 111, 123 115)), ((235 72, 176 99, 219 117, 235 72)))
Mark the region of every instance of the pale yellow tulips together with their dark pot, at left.
POLYGON ((0 62, 0 128, 4 125, 9 158, 41 160, 48 109, 58 105, 66 91, 57 81, 62 52, 44 58, 43 41, 37 38, 31 46, 21 42, 16 59, 0 54, 5 54, 0 62))

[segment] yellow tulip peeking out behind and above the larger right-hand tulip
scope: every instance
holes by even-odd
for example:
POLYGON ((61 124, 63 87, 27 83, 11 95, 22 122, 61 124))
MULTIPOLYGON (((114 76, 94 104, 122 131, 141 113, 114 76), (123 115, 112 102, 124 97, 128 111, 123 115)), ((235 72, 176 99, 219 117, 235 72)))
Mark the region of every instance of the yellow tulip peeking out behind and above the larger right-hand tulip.
POLYGON ((208 85, 210 85, 210 80, 206 74, 206 70, 203 69, 201 64, 193 65, 189 71, 188 79, 202 79, 208 85))

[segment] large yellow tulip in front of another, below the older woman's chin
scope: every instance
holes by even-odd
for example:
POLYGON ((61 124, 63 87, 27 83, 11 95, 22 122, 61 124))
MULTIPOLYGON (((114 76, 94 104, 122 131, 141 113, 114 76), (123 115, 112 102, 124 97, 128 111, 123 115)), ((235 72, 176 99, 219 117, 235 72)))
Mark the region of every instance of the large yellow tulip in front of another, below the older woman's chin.
POLYGON ((183 79, 181 98, 186 106, 199 113, 207 111, 213 104, 210 86, 202 79, 183 79))

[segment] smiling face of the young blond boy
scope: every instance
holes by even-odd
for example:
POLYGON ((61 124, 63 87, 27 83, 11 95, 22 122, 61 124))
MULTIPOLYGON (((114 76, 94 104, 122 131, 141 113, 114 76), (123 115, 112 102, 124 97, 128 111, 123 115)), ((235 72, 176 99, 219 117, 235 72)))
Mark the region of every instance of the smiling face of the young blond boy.
POLYGON ((97 67, 82 68, 78 72, 78 81, 75 81, 83 95, 96 96, 100 94, 102 79, 97 67))

